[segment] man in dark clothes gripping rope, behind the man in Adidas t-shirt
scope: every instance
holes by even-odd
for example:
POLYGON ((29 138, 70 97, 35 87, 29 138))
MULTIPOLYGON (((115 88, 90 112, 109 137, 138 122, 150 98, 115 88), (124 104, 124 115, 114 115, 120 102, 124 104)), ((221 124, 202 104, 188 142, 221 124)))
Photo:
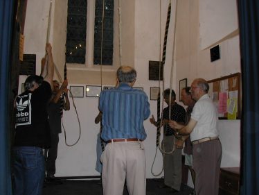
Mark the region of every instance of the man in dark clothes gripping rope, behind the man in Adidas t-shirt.
POLYGON ((51 129, 51 148, 46 150, 46 178, 53 180, 55 178, 55 161, 57 159, 57 146, 59 134, 61 133, 61 118, 63 110, 70 110, 68 96, 68 80, 64 80, 62 86, 57 80, 53 80, 53 92, 51 101, 48 103, 48 122, 51 129))

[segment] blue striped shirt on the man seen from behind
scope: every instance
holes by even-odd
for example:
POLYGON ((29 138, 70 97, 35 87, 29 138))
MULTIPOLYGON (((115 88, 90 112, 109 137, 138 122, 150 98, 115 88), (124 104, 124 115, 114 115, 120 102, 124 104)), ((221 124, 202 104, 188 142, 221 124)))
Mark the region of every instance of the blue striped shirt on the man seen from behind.
POLYGON ((143 121, 150 116, 150 103, 145 92, 126 83, 100 93, 99 110, 102 112, 102 139, 147 137, 143 121))

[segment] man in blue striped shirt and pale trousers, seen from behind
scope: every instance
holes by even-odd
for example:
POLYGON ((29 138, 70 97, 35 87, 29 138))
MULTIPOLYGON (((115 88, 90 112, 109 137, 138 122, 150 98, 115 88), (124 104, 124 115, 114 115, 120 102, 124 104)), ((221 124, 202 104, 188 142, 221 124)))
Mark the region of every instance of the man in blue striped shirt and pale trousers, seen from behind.
POLYGON ((135 81, 135 69, 119 67, 118 87, 100 93, 101 137, 107 142, 101 156, 104 195, 122 195, 125 179, 130 195, 145 195, 143 121, 150 116, 150 104, 145 92, 132 88, 135 81))

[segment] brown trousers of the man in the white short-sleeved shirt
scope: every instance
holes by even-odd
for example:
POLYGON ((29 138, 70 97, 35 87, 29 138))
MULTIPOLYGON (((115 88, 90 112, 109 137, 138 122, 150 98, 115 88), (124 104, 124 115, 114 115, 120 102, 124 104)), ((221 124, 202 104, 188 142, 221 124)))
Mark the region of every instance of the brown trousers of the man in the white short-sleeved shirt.
POLYGON ((193 169, 197 195, 218 195, 222 145, 220 139, 193 144, 193 169))

